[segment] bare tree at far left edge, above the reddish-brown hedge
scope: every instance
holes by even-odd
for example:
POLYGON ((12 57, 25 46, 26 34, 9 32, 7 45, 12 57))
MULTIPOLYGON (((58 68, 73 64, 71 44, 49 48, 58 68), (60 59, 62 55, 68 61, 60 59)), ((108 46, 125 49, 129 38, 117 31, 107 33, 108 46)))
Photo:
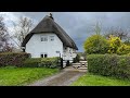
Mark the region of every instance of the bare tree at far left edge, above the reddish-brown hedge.
POLYGON ((9 44, 10 35, 3 21, 4 19, 0 16, 0 52, 11 51, 11 45, 9 44))

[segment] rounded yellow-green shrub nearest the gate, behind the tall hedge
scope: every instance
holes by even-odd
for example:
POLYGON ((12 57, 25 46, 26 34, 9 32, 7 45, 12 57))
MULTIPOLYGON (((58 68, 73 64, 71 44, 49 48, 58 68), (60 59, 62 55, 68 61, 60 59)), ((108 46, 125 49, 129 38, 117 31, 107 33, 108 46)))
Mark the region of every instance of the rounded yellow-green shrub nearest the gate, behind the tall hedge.
POLYGON ((86 53, 106 53, 108 50, 107 40, 101 35, 92 35, 84 44, 83 48, 86 53))

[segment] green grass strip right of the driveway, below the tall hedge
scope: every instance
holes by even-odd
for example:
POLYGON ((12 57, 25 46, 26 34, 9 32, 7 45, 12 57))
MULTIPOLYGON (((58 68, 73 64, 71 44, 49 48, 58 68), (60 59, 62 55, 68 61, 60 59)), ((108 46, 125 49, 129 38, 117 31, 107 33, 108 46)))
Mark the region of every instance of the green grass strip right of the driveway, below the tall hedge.
POLYGON ((72 86, 130 86, 130 81, 117 79, 90 73, 79 77, 72 86))

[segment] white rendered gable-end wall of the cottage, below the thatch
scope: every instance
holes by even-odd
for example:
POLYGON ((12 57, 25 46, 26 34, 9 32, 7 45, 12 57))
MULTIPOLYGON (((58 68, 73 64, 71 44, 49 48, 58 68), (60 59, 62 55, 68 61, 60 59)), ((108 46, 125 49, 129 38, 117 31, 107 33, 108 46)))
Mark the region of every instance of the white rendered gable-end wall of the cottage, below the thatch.
POLYGON ((29 41, 26 44, 26 52, 31 54, 31 58, 40 58, 41 53, 47 53, 48 58, 60 57, 63 54, 63 42, 53 33, 48 34, 34 34, 29 41), (41 36, 48 36, 48 41, 41 41, 41 36), (54 36, 54 40, 50 40, 50 36, 54 36))

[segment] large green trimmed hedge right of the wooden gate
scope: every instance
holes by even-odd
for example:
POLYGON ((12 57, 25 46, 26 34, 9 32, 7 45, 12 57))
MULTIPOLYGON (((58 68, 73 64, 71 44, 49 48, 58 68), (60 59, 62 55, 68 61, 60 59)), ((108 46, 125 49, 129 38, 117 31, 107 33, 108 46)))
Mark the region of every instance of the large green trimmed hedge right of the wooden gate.
POLYGON ((90 54, 87 60, 90 73, 130 78, 130 56, 90 54))

